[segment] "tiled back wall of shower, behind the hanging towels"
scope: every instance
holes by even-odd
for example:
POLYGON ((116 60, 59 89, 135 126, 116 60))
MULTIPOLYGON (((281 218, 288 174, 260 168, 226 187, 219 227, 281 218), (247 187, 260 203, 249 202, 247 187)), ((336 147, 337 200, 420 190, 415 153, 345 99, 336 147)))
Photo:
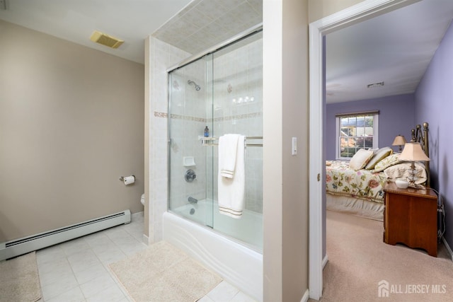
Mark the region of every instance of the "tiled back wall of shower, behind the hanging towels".
MULTIPOLYGON (((214 53, 214 129, 216 137, 242 134, 263 137, 262 34, 214 53), (250 42, 252 40, 253 42, 250 42)), ((247 140, 260 144, 261 140, 247 140)), ((217 196, 217 147, 213 152, 214 196, 217 196)), ((263 213, 263 148, 246 147, 245 208, 263 213)))

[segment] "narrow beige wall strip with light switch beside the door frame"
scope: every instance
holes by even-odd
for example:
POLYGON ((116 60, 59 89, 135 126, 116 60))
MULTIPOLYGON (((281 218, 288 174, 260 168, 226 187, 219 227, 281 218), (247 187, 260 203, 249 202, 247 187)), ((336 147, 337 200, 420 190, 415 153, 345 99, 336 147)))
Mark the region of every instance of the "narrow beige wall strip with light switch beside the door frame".
POLYGON ((308 289, 309 265, 308 1, 284 1, 283 16, 282 301, 300 301, 308 289), (291 155, 292 137, 297 137, 297 156, 291 155))

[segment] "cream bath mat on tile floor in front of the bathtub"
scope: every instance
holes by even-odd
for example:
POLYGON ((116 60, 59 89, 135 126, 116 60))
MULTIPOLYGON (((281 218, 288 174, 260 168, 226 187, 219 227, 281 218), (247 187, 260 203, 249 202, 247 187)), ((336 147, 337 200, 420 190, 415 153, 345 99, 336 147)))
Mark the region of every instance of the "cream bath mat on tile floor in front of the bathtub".
POLYGON ((217 274, 166 241, 154 243, 147 250, 109 266, 137 302, 193 302, 222 281, 217 274))

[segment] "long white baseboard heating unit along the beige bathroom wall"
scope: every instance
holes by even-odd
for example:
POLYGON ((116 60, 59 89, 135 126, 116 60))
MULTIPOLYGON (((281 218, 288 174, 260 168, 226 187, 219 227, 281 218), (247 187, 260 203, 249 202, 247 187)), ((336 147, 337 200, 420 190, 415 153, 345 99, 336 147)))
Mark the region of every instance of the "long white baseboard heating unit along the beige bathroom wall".
POLYGON ((0 261, 126 223, 130 223, 130 210, 0 243, 0 261))

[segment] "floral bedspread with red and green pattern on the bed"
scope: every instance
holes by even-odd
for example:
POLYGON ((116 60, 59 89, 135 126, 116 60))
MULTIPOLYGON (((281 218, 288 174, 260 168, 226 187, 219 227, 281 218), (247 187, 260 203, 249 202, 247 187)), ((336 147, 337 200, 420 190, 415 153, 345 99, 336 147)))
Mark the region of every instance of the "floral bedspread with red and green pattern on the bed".
POLYGON ((348 161, 326 163, 326 190, 334 195, 384 202, 384 173, 369 170, 352 170, 348 161))

